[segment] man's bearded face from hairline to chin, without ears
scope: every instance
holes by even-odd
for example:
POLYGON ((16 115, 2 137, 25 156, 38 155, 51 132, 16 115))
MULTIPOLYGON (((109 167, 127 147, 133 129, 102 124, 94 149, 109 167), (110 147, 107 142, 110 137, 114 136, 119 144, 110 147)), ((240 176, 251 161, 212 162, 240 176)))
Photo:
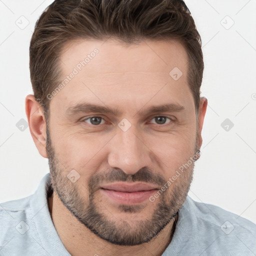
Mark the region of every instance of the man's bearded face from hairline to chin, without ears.
POLYGON ((80 40, 60 60, 46 125, 53 190, 102 239, 147 242, 182 206, 199 148, 186 51, 80 40))

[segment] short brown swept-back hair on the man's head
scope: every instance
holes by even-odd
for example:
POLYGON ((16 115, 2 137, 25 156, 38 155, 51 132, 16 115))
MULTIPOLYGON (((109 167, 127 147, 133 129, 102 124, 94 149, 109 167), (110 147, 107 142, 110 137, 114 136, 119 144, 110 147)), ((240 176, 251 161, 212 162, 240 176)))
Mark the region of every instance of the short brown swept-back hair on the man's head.
MULTIPOLYGON (((34 96, 47 119, 51 93, 60 82, 59 56, 78 38, 136 43, 178 39, 188 54, 187 79, 198 114, 203 73, 201 38, 181 0, 55 0, 36 21, 29 47, 34 96)), ((197 116, 196 116, 197 117, 197 116)))

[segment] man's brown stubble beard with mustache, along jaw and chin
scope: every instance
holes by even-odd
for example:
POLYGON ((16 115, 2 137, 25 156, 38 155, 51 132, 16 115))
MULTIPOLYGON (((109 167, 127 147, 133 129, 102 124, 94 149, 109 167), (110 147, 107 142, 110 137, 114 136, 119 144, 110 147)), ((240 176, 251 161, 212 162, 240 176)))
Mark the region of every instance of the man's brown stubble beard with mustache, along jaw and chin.
MULTIPOLYGON (((139 245, 150 241, 159 232, 175 218, 183 202, 186 199, 190 188, 193 175, 194 162, 182 172, 182 174, 171 183, 165 192, 161 193, 158 200, 152 203, 154 207, 152 217, 149 219, 136 220, 136 217, 129 219, 129 214, 141 214, 143 207, 141 205, 119 205, 120 211, 126 212, 125 219, 116 219, 106 215, 104 208, 95 198, 94 187, 103 181, 104 177, 111 181, 152 181, 155 178, 158 181, 166 183, 159 174, 156 177, 148 168, 142 168, 135 174, 126 174, 121 170, 113 168, 111 171, 98 176, 92 176, 88 182, 88 187, 81 186, 77 188, 76 183, 72 183, 66 174, 68 171, 61 167, 62 165, 56 158, 54 148, 52 147, 48 125, 46 125, 46 152, 48 156, 50 178, 53 191, 57 194, 63 205, 76 217, 84 226, 91 230, 98 237, 118 245, 139 245), (63 175, 63 173, 66 173, 63 175), (171 191, 169 191, 171 189, 171 191), (87 199, 81 194, 87 194, 87 199)), ((196 150, 195 150, 196 151, 196 150)), ((63 165, 62 165, 63 166, 63 165)), ((107 212, 107 211, 106 211, 107 212)), ((109 214, 112 216, 111 214, 109 214)), ((141 217, 141 216, 140 216, 141 217)))

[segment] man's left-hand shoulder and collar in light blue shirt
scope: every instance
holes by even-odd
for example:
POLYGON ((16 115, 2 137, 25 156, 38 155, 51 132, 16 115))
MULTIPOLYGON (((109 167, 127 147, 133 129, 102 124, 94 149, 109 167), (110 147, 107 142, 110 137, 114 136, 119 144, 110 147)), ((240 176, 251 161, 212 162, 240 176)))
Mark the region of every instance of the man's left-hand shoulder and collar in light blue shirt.
POLYGON ((69 255, 50 217, 50 192, 47 173, 33 194, 0 203, 0 255, 69 255))

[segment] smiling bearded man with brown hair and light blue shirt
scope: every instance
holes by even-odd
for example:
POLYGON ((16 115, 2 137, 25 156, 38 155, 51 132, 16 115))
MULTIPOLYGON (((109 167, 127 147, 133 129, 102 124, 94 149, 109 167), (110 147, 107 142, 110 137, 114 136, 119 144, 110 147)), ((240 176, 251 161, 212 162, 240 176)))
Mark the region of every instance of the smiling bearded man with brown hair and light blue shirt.
POLYGON ((55 0, 29 64, 50 173, 1 204, 0 255, 256 254, 255 224, 187 195, 207 99, 184 2, 55 0))

